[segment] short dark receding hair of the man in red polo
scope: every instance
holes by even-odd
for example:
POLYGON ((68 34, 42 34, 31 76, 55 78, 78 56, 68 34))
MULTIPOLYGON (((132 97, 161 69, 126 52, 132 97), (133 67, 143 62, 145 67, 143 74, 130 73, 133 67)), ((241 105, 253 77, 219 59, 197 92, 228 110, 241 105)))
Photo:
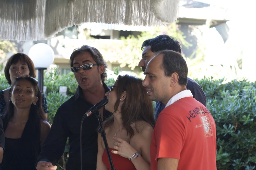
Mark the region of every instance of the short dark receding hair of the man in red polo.
POLYGON ((164 69, 165 76, 169 77, 172 73, 177 73, 179 75, 178 84, 186 86, 188 68, 182 55, 173 50, 159 51, 156 55, 160 54, 163 54, 162 67, 164 69))

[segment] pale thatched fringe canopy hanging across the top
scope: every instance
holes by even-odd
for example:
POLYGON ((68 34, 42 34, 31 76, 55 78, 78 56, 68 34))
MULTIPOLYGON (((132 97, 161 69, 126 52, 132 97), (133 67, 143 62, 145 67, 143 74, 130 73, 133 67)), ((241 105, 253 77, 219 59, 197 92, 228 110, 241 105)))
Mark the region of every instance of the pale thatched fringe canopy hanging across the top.
POLYGON ((180 0, 0 0, 0 39, 37 40, 84 22, 152 26, 177 19, 180 0))

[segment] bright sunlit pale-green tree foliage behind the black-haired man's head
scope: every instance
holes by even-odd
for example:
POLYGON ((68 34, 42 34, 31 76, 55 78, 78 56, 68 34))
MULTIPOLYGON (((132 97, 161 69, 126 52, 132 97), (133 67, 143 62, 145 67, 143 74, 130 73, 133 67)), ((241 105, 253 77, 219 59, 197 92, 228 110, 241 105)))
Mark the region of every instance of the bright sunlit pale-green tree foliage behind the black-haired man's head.
POLYGON ((143 41, 154 38, 157 35, 167 34, 176 37, 184 48, 191 46, 184 38, 183 33, 178 29, 178 26, 173 24, 162 25, 154 27, 153 32, 142 32, 141 35, 135 37, 129 35, 128 37, 121 37, 120 40, 112 43, 102 44, 100 47, 101 53, 104 54, 104 59, 111 63, 118 62, 120 67, 128 65, 132 70, 138 65, 141 59, 140 50, 143 41))

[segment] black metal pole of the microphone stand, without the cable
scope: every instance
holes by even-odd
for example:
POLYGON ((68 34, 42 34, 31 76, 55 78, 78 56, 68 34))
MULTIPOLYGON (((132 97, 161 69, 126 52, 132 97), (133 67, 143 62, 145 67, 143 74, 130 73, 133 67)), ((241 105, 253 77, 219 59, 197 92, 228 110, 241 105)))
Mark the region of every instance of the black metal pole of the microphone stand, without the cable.
POLYGON ((105 133, 103 127, 102 127, 102 123, 101 123, 101 113, 100 113, 100 111, 97 110, 97 111, 95 112, 95 115, 96 115, 96 117, 98 118, 98 121, 99 121, 99 124, 100 124, 100 128, 98 129, 98 132, 101 134, 101 136, 102 136, 102 138, 103 138, 103 141, 104 141, 104 145, 105 145, 105 148, 106 148, 106 151, 107 151, 107 157, 108 157, 108 161, 109 161, 111 170, 116 170, 116 169, 114 168, 114 165, 113 165, 113 162, 112 162, 112 158, 111 158, 111 155, 110 155, 110 151, 109 151, 109 148, 108 148, 106 133, 105 133))

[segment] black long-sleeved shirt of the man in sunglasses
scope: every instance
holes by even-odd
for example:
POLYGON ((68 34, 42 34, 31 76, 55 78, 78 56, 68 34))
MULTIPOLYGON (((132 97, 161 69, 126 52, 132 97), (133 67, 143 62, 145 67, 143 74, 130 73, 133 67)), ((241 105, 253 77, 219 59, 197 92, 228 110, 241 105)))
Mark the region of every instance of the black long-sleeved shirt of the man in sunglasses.
MULTIPOLYGON (((109 87, 103 82, 105 92, 109 87)), ((57 110, 52 128, 43 144, 38 157, 39 161, 56 164, 64 152, 67 137, 69 137, 69 157, 67 170, 80 170, 80 125, 84 114, 93 105, 86 101, 82 89, 78 86, 77 92, 57 110)), ((111 115, 104 108, 104 120, 111 115)), ((97 127, 98 119, 95 115, 85 118, 82 128, 82 158, 84 170, 95 170, 97 163, 97 127)))

